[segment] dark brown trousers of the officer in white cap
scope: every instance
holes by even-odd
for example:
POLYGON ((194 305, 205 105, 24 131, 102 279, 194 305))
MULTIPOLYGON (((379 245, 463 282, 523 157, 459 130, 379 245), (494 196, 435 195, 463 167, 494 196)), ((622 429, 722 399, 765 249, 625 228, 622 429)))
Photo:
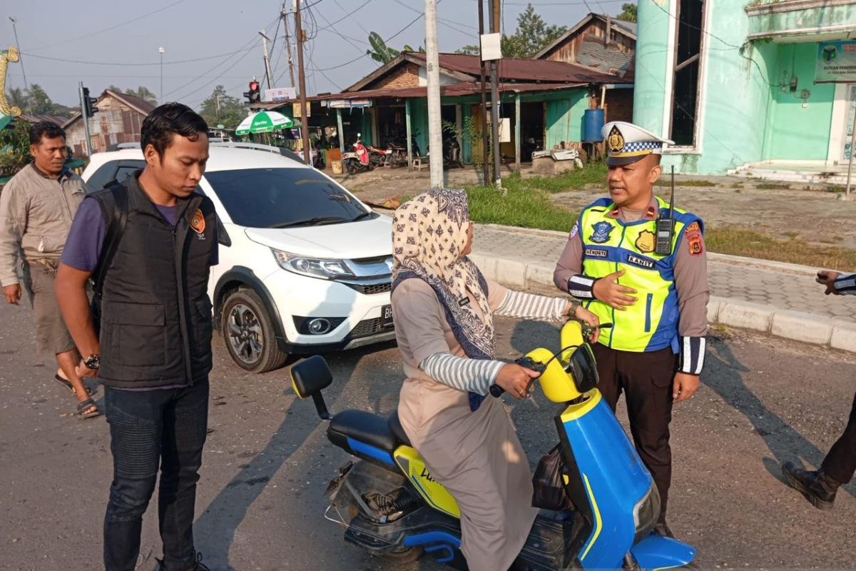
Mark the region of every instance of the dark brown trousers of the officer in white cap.
POLYGON ((592 349, 600 377, 597 387, 603 399, 615 410, 621 392, 625 394, 633 443, 660 492, 660 521, 665 522, 672 482, 669 422, 677 355, 668 347, 650 353, 630 353, 595 343, 592 349))

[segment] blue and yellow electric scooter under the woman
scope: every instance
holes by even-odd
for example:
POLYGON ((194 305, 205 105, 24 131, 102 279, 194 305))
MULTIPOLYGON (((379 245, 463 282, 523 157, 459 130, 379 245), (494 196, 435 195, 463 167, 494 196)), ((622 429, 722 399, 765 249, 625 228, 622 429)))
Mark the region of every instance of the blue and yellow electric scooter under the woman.
MULTIPOLYGON (((692 546, 651 532, 660 497, 651 473, 597 390, 597 366, 586 342, 592 331, 568 321, 559 353, 537 348, 517 361, 540 372, 544 396, 562 405, 555 417, 562 474, 557 486, 570 508, 541 510, 511 569, 693 567, 692 546)), ((346 410, 331 418, 321 394, 333 380, 324 359, 312 356, 291 373, 297 396, 311 397, 318 415, 330 420, 330 442, 359 459, 340 467, 330 482, 324 517, 344 527, 346 541, 374 556, 405 562, 428 555, 467 569, 459 549, 455 498, 431 478, 398 413, 387 418, 346 410)), ((502 392, 490 387, 492 396, 502 392)))

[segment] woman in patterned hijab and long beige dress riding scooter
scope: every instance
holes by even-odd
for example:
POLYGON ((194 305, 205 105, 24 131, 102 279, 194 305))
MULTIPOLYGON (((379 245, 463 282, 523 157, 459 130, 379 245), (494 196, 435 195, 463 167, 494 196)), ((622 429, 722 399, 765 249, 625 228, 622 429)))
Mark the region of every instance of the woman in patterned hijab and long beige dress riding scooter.
POLYGON ((413 447, 461 509, 461 551, 471 571, 504 571, 538 509, 532 473, 497 384, 524 398, 538 375, 494 358, 493 315, 597 324, 578 302, 516 292, 484 279, 467 194, 435 188, 401 205, 393 221, 392 311, 407 380, 399 418, 413 447))

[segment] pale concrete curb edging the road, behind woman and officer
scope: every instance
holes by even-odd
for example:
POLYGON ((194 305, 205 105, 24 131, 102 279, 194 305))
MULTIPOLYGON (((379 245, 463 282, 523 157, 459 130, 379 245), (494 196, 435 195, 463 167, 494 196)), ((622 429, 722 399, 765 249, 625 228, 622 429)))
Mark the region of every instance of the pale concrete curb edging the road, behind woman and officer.
MULTIPOLYGON (((553 270, 556 267, 554 264, 526 263, 520 259, 499 258, 478 252, 470 254, 470 259, 479 266, 484 277, 511 288, 556 287, 553 283, 553 270)), ((757 262, 758 260, 752 260, 753 264, 757 265, 757 262)), ((707 315, 711 324, 739 327, 856 353, 854 323, 716 296, 710 296, 707 315)))

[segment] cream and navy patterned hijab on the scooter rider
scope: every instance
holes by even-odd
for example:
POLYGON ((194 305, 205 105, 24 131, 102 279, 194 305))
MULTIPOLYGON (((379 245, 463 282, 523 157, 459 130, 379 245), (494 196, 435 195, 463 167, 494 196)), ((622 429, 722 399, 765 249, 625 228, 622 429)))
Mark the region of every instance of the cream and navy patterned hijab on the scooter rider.
POLYGON ((463 190, 432 188, 399 206, 392 224, 392 288, 411 277, 428 283, 467 357, 493 359, 494 329, 487 283, 469 258, 461 258, 469 226, 470 211, 463 190))

